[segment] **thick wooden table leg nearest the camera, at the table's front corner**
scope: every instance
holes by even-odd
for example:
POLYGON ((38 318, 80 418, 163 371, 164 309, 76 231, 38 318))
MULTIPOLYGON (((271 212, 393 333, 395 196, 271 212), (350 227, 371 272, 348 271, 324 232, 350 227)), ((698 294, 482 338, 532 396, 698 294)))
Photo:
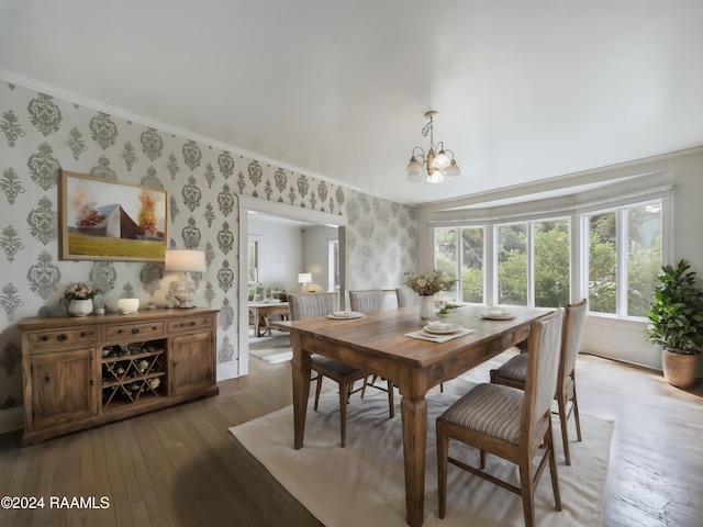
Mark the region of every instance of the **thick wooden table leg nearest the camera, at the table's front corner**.
POLYGON ((427 401, 403 396, 403 457, 405 460, 405 519, 411 527, 422 525, 425 504, 425 453, 427 450, 427 401))

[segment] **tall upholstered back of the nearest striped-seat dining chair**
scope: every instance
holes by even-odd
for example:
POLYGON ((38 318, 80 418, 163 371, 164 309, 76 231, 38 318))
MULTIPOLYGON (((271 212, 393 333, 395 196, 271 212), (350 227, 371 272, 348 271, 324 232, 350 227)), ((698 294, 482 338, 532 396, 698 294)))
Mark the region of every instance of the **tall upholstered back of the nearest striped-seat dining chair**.
POLYGON ((529 329, 523 410, 523 433, 529 434, 525 438, 528 442, 543 429, 543 422, 551 418, 551 401, 557 389, 561 351, 562 321, 563 309, 559 307, 554 313, 534 321, 529 329))

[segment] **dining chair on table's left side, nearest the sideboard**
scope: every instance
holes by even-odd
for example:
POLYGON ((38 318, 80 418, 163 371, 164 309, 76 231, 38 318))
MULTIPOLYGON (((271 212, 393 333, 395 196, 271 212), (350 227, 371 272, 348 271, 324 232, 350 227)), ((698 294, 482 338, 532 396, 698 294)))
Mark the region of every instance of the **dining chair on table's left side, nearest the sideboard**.
MULTIPOLYGON (((325 316, 337 311, 338 306, 337 293, 290 293, 288 303, 291 321, 325 316)), ((326 377, 339 385, 339 437, 341 445, 344 447, 347 436, 347 403, 349 395, 354 392, 354 383, 359 380, 366 382, 369 373, 317 354, 311 355, 311 367, 317 374, 315 404, 313 406, 315 411, 320 403, 322 378, 326 377)))

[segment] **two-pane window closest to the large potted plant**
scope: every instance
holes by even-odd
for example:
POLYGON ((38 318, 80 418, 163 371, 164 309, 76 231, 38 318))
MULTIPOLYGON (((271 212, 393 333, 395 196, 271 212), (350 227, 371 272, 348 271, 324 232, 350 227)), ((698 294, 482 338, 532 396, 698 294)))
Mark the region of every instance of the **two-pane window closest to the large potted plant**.
POLYGON ((663 258, 661 233, 661 200, 588 216, 591 312, 647 315, 663 258))

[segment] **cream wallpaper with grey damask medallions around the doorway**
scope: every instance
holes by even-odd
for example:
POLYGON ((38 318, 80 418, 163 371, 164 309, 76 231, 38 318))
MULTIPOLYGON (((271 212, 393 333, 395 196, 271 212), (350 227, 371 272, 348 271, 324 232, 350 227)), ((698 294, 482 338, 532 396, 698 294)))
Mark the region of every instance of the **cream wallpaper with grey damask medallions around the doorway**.
POLYGON ((169 246, 205 251, 196 301, 220 310, 220 365, 238 360, 238 194, 347 215, 347 289, 395 287, 416 265, 411 208, 12 83, 0 115, 0 410, 22 404, 16 322, 65 314, 69 282, 98 284, 112 310, 168 295, 158 262, 58 259, 60 169, 168 191, 169 246))

